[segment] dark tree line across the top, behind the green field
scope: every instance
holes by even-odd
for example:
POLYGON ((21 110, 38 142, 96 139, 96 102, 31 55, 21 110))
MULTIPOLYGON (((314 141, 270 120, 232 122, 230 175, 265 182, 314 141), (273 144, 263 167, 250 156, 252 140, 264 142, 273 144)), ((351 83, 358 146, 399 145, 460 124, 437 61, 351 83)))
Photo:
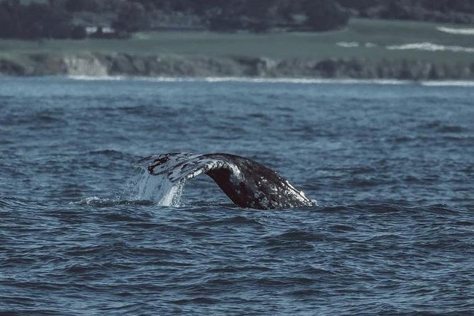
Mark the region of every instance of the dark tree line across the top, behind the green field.
POLYGON ((474 0, 0 0, 0 38, 85 38, 88 23, 121 37, 173 14, 215 31, 322 31, 351 16, 473 23, 474 0))

